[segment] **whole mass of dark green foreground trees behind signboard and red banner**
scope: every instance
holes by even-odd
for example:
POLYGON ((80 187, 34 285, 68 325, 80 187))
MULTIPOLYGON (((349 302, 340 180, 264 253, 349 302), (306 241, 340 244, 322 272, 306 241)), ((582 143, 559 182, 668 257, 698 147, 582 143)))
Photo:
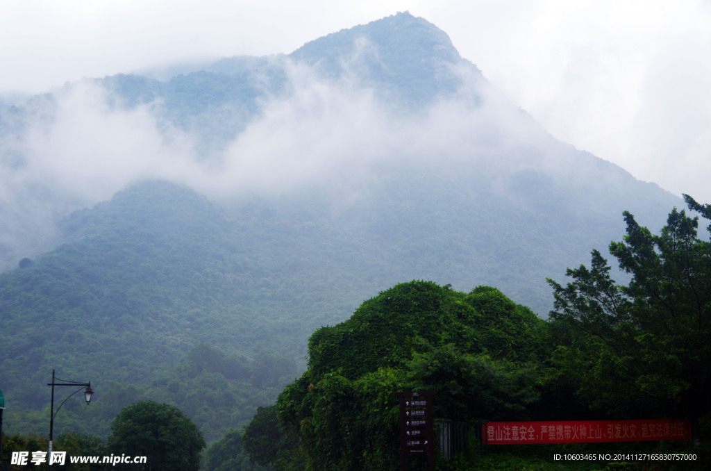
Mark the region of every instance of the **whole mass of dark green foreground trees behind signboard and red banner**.
MULTIPOLYGON (((710 205, 687 202, 711 222, 710 205)), ((400 425, 392 393, 434 390, 434 415, 464 422, 690 418, 703 447, 647 449, 699 456, 664 469, 705 469, 711 243, 697 238, 698 218, 685 211, 674 209, 658 235, 630 213, 625 220, 626 236, 610 250, 629 284, 612 280, 593 250, 591 267, 568 270, 565 287, 549 280, 556 311, 547 321, 491 287, 458 292, 414 281, 317 329, 307 371, 252 419, 242 440, 247 453, 277 470, 395 469, 400 425)), ((471 452, 439 469, 491 465, 471 452)), ((531 455, 528 465, 538 463, 531 455)))

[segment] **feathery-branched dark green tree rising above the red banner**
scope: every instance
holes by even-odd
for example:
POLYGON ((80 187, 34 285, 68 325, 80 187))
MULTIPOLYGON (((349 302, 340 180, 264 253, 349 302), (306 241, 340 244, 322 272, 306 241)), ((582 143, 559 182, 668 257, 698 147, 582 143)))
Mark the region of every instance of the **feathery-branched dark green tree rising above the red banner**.
MULTIPOLYGON (((691 210, 711 219, 709 205, 690 196, 691 210)), ((555 361, 592 405, 627 416, 711 411, 711 243, 697 237, 698 217, 676 208, 655 235, 624 213, 626 235, 610 253, 631 275, 628 285, 610 276, 597 250, 590 268, 567 270, 555 295, 552 322, 568 337, 555 361)), ((711 227, 711 226, 710 226, 711 227)))

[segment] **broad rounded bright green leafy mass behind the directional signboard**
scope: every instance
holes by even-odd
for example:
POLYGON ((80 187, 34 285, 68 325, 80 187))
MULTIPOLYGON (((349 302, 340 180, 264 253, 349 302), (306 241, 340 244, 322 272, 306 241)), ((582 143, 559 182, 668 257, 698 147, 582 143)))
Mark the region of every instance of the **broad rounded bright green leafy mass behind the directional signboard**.
POLYGON ((491 287, 395 285, 311 335, 309 369, 252 420, 245 448, 277 470, 395 469, 395 391, 441 391, 440 418, 530 416, 544 328, 491 287))

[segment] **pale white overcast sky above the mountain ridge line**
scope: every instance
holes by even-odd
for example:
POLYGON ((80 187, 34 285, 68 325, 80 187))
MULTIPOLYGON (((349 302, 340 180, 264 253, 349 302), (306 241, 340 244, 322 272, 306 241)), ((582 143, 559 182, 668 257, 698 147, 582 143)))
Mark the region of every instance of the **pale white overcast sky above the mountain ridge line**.
POLYGON ((447 32, 558 139, 711 203, 707 0, 3 0, 0 93, 290 53, 405 10, 447 32))

